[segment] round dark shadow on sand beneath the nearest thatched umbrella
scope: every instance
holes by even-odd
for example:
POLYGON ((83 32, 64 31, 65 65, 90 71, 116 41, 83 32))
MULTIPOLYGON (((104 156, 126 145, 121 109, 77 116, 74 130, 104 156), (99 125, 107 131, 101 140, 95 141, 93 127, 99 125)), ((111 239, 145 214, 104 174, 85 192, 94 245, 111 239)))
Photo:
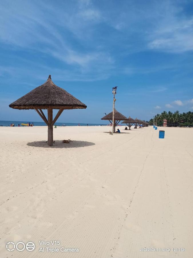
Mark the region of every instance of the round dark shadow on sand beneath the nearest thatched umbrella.
POLYGON ((95 143, 73 140, 70 143, 62 143, 62 140, 55 140, 53 146, 48 146, 46 141, 28 142, 27 145, 40 148, 80 148, 95 145, 95 143))

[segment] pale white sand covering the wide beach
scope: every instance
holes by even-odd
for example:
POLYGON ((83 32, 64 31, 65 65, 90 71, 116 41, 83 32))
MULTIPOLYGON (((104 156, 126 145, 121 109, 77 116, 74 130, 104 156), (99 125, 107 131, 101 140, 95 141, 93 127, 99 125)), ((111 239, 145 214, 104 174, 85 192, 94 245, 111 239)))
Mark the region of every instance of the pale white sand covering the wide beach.
POLYGON ((46 127, 0 127, 0 257, 193 257, 192 128, 120 128, 57 127, 48 147, 34 142, 46 127), (42 240, 79 252, 39 252, 42 240))

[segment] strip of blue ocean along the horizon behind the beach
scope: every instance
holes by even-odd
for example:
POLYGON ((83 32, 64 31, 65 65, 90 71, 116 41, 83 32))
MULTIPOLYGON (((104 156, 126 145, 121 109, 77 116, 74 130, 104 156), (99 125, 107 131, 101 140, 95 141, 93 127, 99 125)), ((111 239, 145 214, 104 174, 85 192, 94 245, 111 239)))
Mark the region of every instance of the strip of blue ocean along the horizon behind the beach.
MULTIPOLYGON (((27 124, 27 122, 30 122, 31 124, 33 123, 34 126, 47 126, 44 122, 34 122, 34 121, 1 121, 0 120, 0 126, 10 126, 10 124, 15 124, 15 126, 18 126, 18 124, 20 126, 22 126, 21 124, 27 124)), ((87 124, 83 124, 83 123, 79 123, 80 126, 87 126, 87 124)), ((59 123, 56 122, 55 125, 57 126, 62 126, 62 125, 66 125, 66 126, 77 126, 78 123, 59 123)), ((106 124, 88 124, 88 126, 100 126, 100 125, 106 125, 106 124)))

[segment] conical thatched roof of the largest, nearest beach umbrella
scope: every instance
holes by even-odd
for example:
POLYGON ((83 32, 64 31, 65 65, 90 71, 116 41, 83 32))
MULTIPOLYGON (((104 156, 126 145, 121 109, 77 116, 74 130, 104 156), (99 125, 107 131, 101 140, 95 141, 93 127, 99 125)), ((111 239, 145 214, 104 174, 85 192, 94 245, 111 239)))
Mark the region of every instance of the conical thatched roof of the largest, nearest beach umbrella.
POLYGON ((59 109, 61 107, 64 109, 87 107, 73 95, 55 85, 51 80, 51 75, 49 75, 44 84, 9 105, 9 107, 15 109, 46 109, 49 106, 53 109, 59 109))

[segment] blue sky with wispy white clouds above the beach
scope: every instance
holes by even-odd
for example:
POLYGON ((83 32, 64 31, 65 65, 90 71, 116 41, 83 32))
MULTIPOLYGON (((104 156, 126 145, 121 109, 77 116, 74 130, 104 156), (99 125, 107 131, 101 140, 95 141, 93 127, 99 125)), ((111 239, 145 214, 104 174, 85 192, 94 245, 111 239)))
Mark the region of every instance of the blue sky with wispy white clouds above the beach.
POLYGON ((150 120, 193 111, 193 1, 1 1, 0 120, 41 121, 9 104, 53 82, 87 105, 58 122, 150 120))

